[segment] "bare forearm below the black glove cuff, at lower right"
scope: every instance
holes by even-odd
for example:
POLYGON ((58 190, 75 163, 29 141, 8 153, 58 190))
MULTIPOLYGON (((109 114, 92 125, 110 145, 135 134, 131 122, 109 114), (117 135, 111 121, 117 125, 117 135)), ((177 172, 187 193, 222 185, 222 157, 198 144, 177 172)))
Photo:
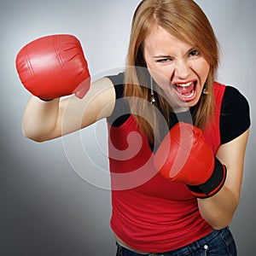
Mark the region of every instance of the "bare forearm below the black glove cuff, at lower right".
POLYGON ((198 207, 202 218, 214 229, 220 230, 231 223, 238 201, 236 195, 224 186, 216 195, 198 199, 198 207))

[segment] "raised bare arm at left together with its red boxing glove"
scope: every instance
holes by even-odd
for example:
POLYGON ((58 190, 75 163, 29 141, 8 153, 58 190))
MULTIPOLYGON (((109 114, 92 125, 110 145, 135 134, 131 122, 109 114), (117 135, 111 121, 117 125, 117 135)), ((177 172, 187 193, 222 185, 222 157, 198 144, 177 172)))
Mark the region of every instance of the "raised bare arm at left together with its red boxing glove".
POLYGON ((115 93, 109 79, 90 84, 77 38, 38 38, 20 50, 16 67, 32 93, 23 116, 23 133, 42 142, 88 126, 112 113, 115 93), (60 100, 61 96, 70 96, 60 100), (84 96, 85 95, 85 96, 84 96))

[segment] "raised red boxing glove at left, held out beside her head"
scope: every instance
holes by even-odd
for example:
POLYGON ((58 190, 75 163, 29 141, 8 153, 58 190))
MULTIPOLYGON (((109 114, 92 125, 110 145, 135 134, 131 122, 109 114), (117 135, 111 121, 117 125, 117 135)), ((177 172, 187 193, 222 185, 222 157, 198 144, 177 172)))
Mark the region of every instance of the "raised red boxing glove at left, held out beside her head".
POLYGON ((16 56, 20 81, 32 95, 49 100, 90 89, 90 73, 79 40, 72 35, 38 38, 16 56))

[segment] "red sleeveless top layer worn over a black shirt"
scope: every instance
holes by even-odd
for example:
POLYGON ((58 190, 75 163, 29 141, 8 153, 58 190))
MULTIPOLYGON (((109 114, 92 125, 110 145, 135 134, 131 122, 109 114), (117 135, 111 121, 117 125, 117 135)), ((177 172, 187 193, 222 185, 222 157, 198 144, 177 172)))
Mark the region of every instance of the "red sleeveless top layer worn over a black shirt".
MULTIPOLYGON (((214 84, 215 120, 206 141, 220 145, 219 115, 225 86, 214 84)), ((154 169, 148 139, 131 115, 119 127, 108 124, 113 232, 131 248, 162 253, 206 236, 212 226, 201 218, 197 199, 183 183, 169 182, 154 169)))

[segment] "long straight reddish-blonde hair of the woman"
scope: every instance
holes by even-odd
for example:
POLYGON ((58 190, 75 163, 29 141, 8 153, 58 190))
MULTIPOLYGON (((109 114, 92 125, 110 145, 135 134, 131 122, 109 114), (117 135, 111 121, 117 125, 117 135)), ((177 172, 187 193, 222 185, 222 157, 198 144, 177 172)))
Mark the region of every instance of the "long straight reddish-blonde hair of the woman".
MULTIPOLYGON (((207 76, 207 94, 202 94, 196 104, 194 125, 204 129, 213 116, 214 96, 213 82, 218 68, 218 41, 212 26, 201 8, 192 0, 143 0, 137 7, 131 24, 131 38, 127 54, 127 67, 125 69, 125 97, 129 97, 131 113, 142 131, 151 143, 155 138, 160 139, 160 121, 156 111, 148 104, 150 89, 142 86, 148 83, 146 72, 141 72, 140 67, 147 69, 143 56, 143 42, 152 32, 155 25, 161 26, 179 40, 194 44, 201 55, 210 64, 207 76), (143 103, 140 100, 143 99, 143 103), (143 106, 142 106, 143 104, 143 106), (150 124, 145 116, 150 115, 150 124), (154 134, 156 132, 157 134, 154 134)), ((160 88, 157 90, 160 91, 160 88)), ((166 122, 169 123, 169 113, 172 108, 160 94, 157 95, 155 107, 161 109, 166 122)))

